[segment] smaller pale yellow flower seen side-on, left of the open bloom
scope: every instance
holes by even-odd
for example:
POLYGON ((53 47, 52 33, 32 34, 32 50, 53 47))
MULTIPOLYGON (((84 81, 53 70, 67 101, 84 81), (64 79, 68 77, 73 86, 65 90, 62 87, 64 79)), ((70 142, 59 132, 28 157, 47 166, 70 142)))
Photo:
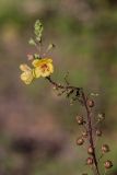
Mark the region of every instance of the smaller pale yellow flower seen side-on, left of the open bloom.
POLYGON ((25 84, 30 84, 34 79, 34 69, 31 69, 27 65, 21 65, 20 69, 23 71, 21 74, 21 80, 25 84))

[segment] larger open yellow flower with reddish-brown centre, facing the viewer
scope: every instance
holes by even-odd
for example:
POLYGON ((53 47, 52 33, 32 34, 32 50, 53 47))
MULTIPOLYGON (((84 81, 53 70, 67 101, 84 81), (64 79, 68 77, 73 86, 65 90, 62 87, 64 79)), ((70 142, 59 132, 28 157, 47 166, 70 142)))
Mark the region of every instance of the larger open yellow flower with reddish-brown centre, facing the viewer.
POLYGON ((52 60, 49 58, 35 59, 32 65, 35 67, 35 78, 46 78, 54 72, 52 60))

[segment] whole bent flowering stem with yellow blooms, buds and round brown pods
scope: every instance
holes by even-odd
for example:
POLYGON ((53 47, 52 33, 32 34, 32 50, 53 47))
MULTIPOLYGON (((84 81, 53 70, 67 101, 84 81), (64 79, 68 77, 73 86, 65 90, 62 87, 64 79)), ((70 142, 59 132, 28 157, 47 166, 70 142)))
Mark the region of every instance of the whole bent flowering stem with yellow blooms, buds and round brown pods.
MULTIPOLYGON (((43 24, 37 20, 34 25, 35 37, 30 39, 30 44, 37 48, 37 54, 27 55, 31 66, 27 66, 26 63, 22 63, 20 66, 22 71, 21 80, 25 84, 31 84, 34 80, 44 78, 52 85, 55 91, 59 92, 59 95, 66 95, 71 103, 77 101, 84 107, 85 116, 78 115, 75 117, 78 125, 80 127, 83 126, 81 136, 77 138, 75 142, 77 145, 81 147, 87 141, 89 147, 85 147, 87 153, 85 164, 92 168, 94 175, 105 175, 108 170, 113 167, 113 162, 110 160, 103 162, 104 172, 101 172, 100 164, 102 163, 102 158, 108 153, 110 149, 108 144, 104 143, 102 144, 101 150, 98 150, 101 151, 101 154, 98 155, 96 153, 97 148, 95 140, 96 138, 102 137, 102 130, 98 129, 98 125, 105 119, 105 114, 98 113, 95 124, 93 122, 93 108, 95 106, 95 102, 92 100, 92 95, 96 96, 97 94, 91 93, 91 95, 87 95, 83 88, 71 85, 67 79, 68 75, 65 77, 65 84, 57 83, 51 79, 51 74, 54 73, 54 63, 52 59, 47 57, 47 54, 55 47, 55 45, 49 44, 46 51, 42 52, 43 31, 43 24)), ((82 175, 87 175, 87 173, 84 172, 82 175)))

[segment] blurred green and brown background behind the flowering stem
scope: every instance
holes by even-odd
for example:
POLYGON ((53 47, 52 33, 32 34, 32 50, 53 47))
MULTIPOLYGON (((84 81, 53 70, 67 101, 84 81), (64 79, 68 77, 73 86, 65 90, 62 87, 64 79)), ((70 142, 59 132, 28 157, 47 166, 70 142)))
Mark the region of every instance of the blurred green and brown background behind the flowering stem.
POLYGON ((20 80, 20 63, 35 52, 28 39, 37 19, 45 26, 44 47, 56 44, 49 55, 55 65, 52 78, 63 82, 70 71, 71 84, 100 94, 95 110, 105 112, 106 120, 98 148, 110 144, 106 159, 115 165, 108 174, 116 175, 116 0, 0 0, 0 175, 89 172, 85 150, 75 145, 80 135, 75 115, 83 114, 82 107, 58 97, 44 79, 31 85, 20 80))

